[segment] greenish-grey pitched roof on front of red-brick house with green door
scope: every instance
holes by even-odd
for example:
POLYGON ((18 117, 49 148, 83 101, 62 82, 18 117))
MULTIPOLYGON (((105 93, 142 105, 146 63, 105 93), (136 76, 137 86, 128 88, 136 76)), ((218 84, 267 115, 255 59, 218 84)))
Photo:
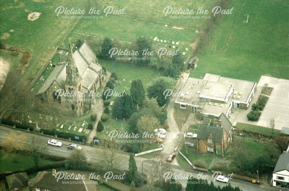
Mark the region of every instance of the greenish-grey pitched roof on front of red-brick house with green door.
POLYGON ((213 138, 213 141, 222 143, 223 128, 216 126, 200 125, 198 129, 197 139, 207 140, 209 135, 213 138))

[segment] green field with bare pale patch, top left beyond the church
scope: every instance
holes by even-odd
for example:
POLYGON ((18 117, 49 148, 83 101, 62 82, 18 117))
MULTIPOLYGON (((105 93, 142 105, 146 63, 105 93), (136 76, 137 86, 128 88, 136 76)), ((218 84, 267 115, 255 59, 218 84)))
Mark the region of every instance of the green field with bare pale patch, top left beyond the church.
MULTIPOLYGON (((54 12, 58 6, 81 6, 81 1, 2 1, 0 36, 8 33, 10 36, 1 39, 2 43, 29 50, 32 59, 29 66, 23 70, 26 78, 32 79, 40 70, 45 60, 63 40, 64 35, 75 19, 57 17, 54 12), (28 14, 40 12, 37 20, 28 20, 28 14)), ((4 55, 5 56, 5 55, 4 55)))

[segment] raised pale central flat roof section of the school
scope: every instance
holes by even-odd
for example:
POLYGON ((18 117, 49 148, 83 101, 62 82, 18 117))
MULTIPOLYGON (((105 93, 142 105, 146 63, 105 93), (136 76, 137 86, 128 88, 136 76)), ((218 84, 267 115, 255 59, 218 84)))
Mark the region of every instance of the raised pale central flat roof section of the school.
POLYGON ((224 99, 227 97, 232 85, 218 82, 208 81, 200 96, 208 96, 211 98, 224 99))

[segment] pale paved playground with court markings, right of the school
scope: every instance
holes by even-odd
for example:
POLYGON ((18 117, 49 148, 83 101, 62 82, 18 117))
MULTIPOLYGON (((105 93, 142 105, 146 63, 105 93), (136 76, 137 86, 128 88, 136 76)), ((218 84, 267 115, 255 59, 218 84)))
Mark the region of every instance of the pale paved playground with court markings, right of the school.
POLYGON ((275 129, 281 130, 289 122, 289 80, 261 76, 258 85, 263 86, 265 83, 274 89, 257 125, 267 127, 268 120, 274 118, 275 129))

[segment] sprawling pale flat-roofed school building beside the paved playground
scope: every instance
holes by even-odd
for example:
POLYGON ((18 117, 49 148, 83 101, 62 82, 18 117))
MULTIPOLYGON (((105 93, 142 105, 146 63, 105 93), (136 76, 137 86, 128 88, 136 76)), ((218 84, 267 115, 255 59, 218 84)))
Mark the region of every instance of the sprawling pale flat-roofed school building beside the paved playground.
POLYGON ((216 119, 222 113, 229 117, 234 108, 249 107, 256 85, 215 74, 205 74, 203 79, 188 78, 175 100, 175 108, 200 113, 203 118, 216 119))

